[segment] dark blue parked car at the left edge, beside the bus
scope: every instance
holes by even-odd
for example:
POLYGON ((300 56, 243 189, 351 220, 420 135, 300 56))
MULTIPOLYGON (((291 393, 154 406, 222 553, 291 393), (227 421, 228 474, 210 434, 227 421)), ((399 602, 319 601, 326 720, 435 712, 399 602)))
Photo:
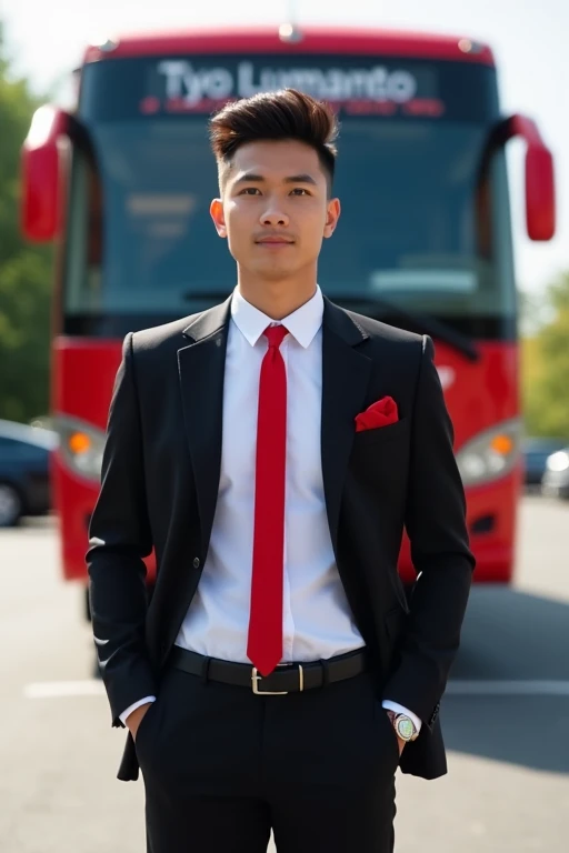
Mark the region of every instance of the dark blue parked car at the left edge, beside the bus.
POLYGON ((53 430, 0 420, 0 528, 50 511, 49 455, 58 442, 53 430))

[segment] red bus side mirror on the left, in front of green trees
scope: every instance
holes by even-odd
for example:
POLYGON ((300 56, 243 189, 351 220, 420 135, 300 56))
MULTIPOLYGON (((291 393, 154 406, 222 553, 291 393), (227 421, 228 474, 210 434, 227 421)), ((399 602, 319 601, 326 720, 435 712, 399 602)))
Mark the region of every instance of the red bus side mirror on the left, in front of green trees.
POLYGON ((57 107, 33 114, 21 151, 21 230, 32 242, 53 240, 61 221, 61 147, 69 116, 57 107))

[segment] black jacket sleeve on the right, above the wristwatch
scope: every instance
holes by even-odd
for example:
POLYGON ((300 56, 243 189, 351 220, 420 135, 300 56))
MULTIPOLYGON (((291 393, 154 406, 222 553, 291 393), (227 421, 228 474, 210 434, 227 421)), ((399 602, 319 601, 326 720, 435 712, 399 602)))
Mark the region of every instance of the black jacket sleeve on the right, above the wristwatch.
POLYGON ((423 335, 406 508, 406 530, 418 579, 399 664, 383 698, 410 708, 429 729, 438 716, 459 648, 475 568, 453 438, 433 363, 432 340, 423 335))

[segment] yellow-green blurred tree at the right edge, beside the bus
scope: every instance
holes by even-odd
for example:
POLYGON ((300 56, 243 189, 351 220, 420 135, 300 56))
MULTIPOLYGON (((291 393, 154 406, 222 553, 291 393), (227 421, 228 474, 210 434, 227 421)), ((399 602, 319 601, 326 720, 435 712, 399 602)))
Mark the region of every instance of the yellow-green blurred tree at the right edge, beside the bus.
POLYGON ((569 442, 569 272, 547 290, 551 319, 523 342, 526 432, 569 442))

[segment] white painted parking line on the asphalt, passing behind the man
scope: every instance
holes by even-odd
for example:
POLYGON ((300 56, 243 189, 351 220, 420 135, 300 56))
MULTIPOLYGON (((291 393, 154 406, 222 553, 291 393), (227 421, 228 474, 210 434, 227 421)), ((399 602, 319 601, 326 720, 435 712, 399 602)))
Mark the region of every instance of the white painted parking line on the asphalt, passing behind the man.
MULTIPOLYGON (((569 681, 450 681, 447 694, 452 696, 569 696, 569 681)), ((84 681, 44 681, 27 684, 27 699, 104 695, 98 679, 84 681)))

